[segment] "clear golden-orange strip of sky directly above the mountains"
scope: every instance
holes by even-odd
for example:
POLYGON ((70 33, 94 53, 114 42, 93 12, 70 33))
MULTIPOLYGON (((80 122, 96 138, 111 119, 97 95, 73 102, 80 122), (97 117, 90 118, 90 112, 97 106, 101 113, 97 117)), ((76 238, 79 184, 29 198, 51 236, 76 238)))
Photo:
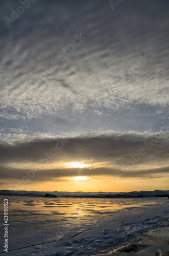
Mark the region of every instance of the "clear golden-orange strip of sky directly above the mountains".
POLYGON ((152 179, 126 178, 116 179, 112 176, 75 176, 64 177, 55 181, 41 181, 23 185, 22 183, 9 182, 8 186, 2 185, 1 189, 8 190, 27 190, 27 191, 68 191, 68 192, 130 192, 130 191, 153 191, 168 190, 169 177, 152 179), (73 178, 73 179, 72 179, 73 178))

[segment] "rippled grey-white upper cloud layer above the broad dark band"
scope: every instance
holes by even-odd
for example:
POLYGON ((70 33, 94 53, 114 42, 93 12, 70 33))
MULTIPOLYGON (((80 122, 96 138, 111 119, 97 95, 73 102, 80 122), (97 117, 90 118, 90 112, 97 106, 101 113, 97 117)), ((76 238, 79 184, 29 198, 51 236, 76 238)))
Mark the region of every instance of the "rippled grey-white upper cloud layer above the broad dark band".
MULTIPOLYGON (((1 7, 10 17, 18 2, 1 7)), ((35 1, 9 28, 2 20, 3 132, 158 131, 168 109, 167 7, 128 1, 113 12, 103 1, 35 1), (86 39, 63 54, 80 33, 86 39)))

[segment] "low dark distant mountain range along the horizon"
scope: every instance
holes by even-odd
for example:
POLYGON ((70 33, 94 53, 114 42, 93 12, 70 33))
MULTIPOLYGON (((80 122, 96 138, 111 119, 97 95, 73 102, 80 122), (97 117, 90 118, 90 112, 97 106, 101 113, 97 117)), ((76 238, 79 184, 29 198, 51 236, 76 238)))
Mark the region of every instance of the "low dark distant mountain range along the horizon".
POLYGON ((26 190, 0 190, 4 196, 44 197, 52 194, 57 197, 78 198, 141 198, 141 197, 169 197, 169 190, 132 191, 132 192, 59 192, 59 191, 26 191, 26 190))

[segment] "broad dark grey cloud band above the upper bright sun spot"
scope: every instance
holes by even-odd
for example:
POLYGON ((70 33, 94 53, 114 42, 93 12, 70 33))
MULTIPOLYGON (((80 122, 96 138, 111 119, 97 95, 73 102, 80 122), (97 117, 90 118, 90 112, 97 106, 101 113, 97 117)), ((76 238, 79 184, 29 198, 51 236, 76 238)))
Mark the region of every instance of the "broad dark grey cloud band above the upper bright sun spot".
MULTIPOLYGON (((128 163, 163 163, 168 158, 167 134, 157 136, 96 136, 34 140, 25 143, 1 144, 0 160, 8 162, 35 162, 47 164, 57 161, 106 161, 107 165, 128 163)), ((138 168, 138 167, 137 167, 138 168)))

